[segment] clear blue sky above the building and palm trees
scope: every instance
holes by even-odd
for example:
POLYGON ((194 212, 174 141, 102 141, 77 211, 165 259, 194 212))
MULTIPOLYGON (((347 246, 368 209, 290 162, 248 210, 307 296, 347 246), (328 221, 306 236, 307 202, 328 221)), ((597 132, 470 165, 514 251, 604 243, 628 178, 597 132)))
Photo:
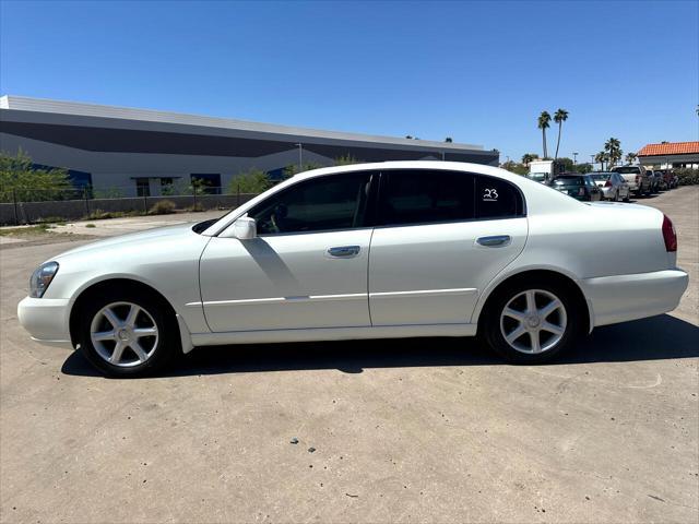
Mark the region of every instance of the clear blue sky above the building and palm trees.
POLYGON ((699 2, 0 1, 0 93, 541 155, 699 140, 699 2), (549 132, 549 152, 555 147, 549 132))

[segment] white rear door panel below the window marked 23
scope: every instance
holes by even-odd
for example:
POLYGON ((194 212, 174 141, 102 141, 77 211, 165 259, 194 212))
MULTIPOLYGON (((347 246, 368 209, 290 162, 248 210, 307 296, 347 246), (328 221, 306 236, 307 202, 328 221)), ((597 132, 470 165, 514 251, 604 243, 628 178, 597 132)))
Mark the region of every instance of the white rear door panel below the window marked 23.
POLYGON ((479 291, 525 242, 526 218, 376 228, 369 258, 372 325, 470 322, 479 291), (476 243, 496 235, 511 241, 476 243))

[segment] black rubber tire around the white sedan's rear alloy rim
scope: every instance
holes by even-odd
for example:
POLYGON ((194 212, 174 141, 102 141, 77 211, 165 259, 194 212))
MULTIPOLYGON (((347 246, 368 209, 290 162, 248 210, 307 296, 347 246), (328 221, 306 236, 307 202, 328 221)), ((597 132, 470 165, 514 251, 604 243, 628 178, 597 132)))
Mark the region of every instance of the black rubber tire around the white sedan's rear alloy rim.
MULTIPOLYGON (((574 345, 578 336, 582 332, 581 318, 584 318, 582 311, 579 311, 577 300, 572 293, 566 287, 557 283, 552 283, 549 279, 532 278, 529 281, 519 282, 507 286, 496 291, 497 295, 488 301, 487 311, 485 311, 484 322, 482 324, 483 335, 488 345, 501 357, 512 364, 543 364, 548 362, 556 358, 560 353, 568 350, 574 345), (501 329, 501 315, 503 309, 512 299, 525 293, 528 290, 542 290, 548 293, 562 302, 566 323, 565 330, 560 335, 558 342, 556 342, 550 348, 544 349, 541 353, 523 353, 512 347, 505 338, 502 333, 506 330, 503 325, 501 329)), ((538 306, 538 303, 537 303, 538 306)), ((558 313, 556 313, 558 314, 558 313)), ((547 315, 544 320, 550 319, 552 323, 556 323, 556 320, 552 318, 552 314, 547 315)), ((553 335, 553 334, 552 334, 553 335)), ((529 338, 529 333, 524 332, 520 338, 529 338)), ((538 336, 538 335, 537 335, 538 336)), ((517 344, 517 342, 516 342, 517 344)), ((543 343, 546 345, 546 342, 543 343)))

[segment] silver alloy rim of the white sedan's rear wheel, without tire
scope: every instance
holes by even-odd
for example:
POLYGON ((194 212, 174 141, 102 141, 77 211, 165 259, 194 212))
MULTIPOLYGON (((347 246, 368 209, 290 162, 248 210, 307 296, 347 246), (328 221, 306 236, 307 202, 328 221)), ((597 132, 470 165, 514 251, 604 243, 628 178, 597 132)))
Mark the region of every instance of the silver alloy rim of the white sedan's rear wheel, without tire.
POLYGON ((528 289, 512 297, 500 314, 500 332, 513 349, 540 354, 564 337, 568 317, 564 302, 544 289, 528 289))

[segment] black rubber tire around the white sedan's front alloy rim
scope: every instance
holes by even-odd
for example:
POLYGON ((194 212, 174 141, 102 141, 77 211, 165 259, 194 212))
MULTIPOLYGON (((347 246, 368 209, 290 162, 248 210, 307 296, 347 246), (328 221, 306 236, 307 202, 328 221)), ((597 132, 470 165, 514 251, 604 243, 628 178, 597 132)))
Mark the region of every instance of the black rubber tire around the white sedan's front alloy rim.
MULTIPOLYGON (((159 297, 131 289, 110 289, 106 293, 99 294, 97 297, 85 303, 80 312, 76 335, 80 349, 85 358, 95 368, 108 377, 127 378, 152 376, 162 371, 166 365, 173 360, 173 357, 181 353, 179 327, 169 307, 166 303, 163 303, 163 299, 159 297), (152 349, 147 352, 147 358, 145 358, 141 364, 130 364, 130 360, 132 362, 139 361, 140 359, 135 352, 127 346, 122 350, 123 364, 119 366, 108 362, 106 358, 100 355, 100 352, 104 355, 105 350, 109 350, 109 345, 112 345, 111 347, 116 345, 118 341, 117 333, 119 330, 116 326, 111 327, 108 322, 105 323, 106 317, 102 320, 102 325, 106 326, 106 330, 111 327, 115 333, 115 338, 114 342, 112 340, 105 340, 104 343, 97 342, 97 345, 100 346, 99 352, 93 344, 91 335, 93 322, 98 323, 95 319, 107 306, 118 305, 110 309, 117 312, 118 320, 128 320, 128 317, 125 317, 125 313, 121 311, 127 311, 129 303, 141 308, 141 312, 137 313, 138 320, 134 320, 134 325, 137 325, 138 329, 141 329, 139 327, 140 325, 145 325, 145 327, 142 327, 141 330, 147 330, 150 329, 150 325, 153 324, 156 329, 156 335, 131 335, 134 337, 133 340, 139 343, 143 340, 143 346, 152 347, 152 349), (135 338, 135 336, 142 336, 143 338, 135 338)), ((128 334, 125 336, 128 336, 128 334)))

